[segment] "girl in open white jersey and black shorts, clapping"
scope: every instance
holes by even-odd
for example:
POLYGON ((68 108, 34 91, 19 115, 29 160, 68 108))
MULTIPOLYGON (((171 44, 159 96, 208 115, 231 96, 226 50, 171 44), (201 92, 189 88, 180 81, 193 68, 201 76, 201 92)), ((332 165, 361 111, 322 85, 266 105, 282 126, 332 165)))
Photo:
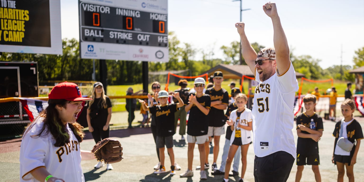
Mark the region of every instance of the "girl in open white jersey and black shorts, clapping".
MULTIPOLYGON (((236 154, 238 147, 241 146, 241 178, 239 182, 244 181, 244 174, 246 170, 246 154, 248 153, 248 147, 252 143, 251 131, 252 131, 252 111, 245 108, 245 104, 248 97, 245 94, 238 94, 236 96, 235 103, 238 109, 230 113, 230 120, 227 124, 233 131, 233 135, 230 138, 230 149, 229 155, 227 157, 225 171, 230 170, 231 163, 233 161, 234 155, 236 154)), ((224 181, 229 181, 229 173, 225 173, 224 181)))

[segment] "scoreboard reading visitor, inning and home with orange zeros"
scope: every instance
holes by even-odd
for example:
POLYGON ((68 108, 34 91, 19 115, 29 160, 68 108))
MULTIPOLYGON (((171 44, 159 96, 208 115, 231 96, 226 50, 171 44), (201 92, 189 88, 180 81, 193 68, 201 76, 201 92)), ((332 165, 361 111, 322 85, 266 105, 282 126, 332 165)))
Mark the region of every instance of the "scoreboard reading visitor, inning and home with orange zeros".
POLYGON ((80 56, 168 62, 167 0, 79 0, 80 56))

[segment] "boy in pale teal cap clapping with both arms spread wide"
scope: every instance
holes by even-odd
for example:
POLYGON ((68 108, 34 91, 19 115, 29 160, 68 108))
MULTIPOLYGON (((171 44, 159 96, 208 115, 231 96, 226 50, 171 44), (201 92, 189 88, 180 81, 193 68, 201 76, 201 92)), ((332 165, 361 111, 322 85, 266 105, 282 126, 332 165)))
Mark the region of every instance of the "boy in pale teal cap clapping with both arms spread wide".
POLYGON ((177 108, 183 106, 183 101, 181 97, 179 97, 179 92, 174 92, 173 97, 178 99, 178 104, 167 104, 168 100, 168 92, 165 90, 159 91, 156 94, 161 106, 152 105, 150 107, 146 106, 144 100, 139 99, 139 102, 142 103, 142 107, 144 110, 149 111, 151 114, 155 115, 155 122, 157 125, 157 141, 156 145, 159 149, 159 157, 161 159, 161 166, 154 174, 165 173, 166 168, 164 167, 164 146, 167 147, 167 151, 169 157, 171 159, 171 175, 176 174, 174 172, 174 153, 173 153, 173 135, 174 131, 174 113, 177 111, 177 108))

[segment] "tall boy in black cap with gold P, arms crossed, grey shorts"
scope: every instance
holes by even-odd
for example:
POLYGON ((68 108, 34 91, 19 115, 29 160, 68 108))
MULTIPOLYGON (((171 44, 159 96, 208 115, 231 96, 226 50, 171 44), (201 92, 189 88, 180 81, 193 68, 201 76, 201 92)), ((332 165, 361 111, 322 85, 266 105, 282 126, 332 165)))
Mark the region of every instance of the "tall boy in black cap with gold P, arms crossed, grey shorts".
MULTIPOLYGON (((223 81, 223 75, 221 71, 214 72, 214 87, 206 89, 206 94, 211 96, 211 112, 209 112, 209 140, 214 136, 214 161, 211 166, 212 170, 217 170, 216 160, 219 153, 220 135, 225 133, 225 116, 224 110, 229 104, 229 93, 221 87, 223 81)), ((206 152, 206 167, 209 166, 208 155, 209 145, 205 146, 206 152)))

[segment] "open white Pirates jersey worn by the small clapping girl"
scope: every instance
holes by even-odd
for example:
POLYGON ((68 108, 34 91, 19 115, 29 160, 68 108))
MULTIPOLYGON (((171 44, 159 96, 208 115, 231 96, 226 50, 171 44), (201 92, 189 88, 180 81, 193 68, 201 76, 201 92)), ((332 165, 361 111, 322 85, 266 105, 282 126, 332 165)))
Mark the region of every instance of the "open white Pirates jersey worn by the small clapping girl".
MULTIPOLYGON (((236 126, 239 124, 244 125, 244 126, 248 126, 248 123, 252 122, 252 111, 248 108, 245 108, 245 110, 240 114, 240 116, 237 116, 237 109, 234 111, 231 111, 230 113, 230 119, 233 120, 234 122, 234 130, 233 130, 233 134, 230 137, 230 146, 233 144, 234 139, 235 139, 235 133, 236 133, 236 126)), ((230 126, 228 126, 230 127, 230 126)), ((230 130, 230 128, 229 128, 230 130)), ((240 138, 241 138, 241 143, 243 145, 246 145, 250 142, 252 142, 252 131, 250 130, 244 130, 243 128, 239 128, 240 130, 240 138)))

